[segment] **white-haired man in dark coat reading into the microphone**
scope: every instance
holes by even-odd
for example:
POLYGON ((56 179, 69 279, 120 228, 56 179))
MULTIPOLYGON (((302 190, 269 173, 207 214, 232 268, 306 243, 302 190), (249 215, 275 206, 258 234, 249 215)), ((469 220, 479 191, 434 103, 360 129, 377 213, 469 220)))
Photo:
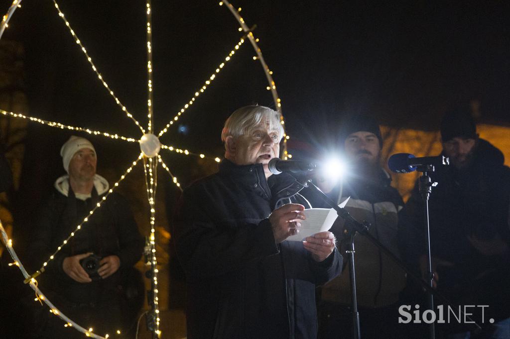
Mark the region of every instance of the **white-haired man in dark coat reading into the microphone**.
POLYGON ((286 241, 305 219, 302 186, 271 175, 281 115, 236 110, 219 171, 184 190, 174 224, 187 279, 188 338, 315 338, 315 287, 340 273, 330 232, 286 241))

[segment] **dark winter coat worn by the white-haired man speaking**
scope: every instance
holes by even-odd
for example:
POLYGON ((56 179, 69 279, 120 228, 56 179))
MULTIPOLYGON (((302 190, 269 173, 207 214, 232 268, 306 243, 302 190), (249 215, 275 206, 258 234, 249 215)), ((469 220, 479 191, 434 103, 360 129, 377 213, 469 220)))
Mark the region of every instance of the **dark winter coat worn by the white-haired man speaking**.
POLYGON ((276 244, 267 217, 301 189, 262 164, 223 160, 183 193, 177 255, 187 273, 188 337, 314 338, 315 287, 342 266, 337 250, 315 262, 301 242, 276 244))

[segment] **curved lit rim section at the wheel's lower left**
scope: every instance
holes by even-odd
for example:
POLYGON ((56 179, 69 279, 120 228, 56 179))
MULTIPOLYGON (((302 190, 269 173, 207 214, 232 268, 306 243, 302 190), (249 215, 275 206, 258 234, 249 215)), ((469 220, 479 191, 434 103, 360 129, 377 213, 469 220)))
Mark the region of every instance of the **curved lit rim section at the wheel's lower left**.
MULTIPOLYGON (((86 333, 87 332, 86 328, 78 325, 77 323, 69 319, 65 314, 60 312, 60 310, 52 302, 50 302, 48 298, 46 298, 46 296, 42 293, 42 291, 37 286, 38 285, 37 280, 35 278, 31 278, 30 274, 27 272, 27 270, 25 270, 24 266, 19 261, 16 251, 12 247, 12 240, 8 238, 1 220, 0 220, 0 235, 2 237, 2 241, 4 242, 4 244, 6 244, 6 248, 11 258, 14 260, 14 263, 17 263, 15 264, 15 266, 19 268, 19 270, 21 271, 25 278, 29 279, 30 281, 29 286, 34 290, 36 296, 39 296, 38 301, 44 302, 49 307, 49 312, 62 319, 65 322, 65 325, 67 325, 67 327, 69 326, 74 327, 80 332, 86 333)), ((89 336, 97 339, 105 339, 104 337, 101 337, 94 333, 90 333, 89 336)))

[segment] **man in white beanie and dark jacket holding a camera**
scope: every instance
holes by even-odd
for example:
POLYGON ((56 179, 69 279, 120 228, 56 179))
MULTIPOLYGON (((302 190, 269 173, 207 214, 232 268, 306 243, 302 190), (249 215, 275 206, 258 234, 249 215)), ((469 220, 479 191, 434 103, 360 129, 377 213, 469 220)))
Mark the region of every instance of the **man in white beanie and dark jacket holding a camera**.
MULTIPOLYGON (((68 174, 55 181, 55 189, 42 204, 28 256, 32 269, 38 269, 75 232, 48 262, 39 283, 70 319, 93 327, 94 333, 114 333, 129 325, 122 275, 131 272, 140 259, 143 238, 129 204, 115 192, 75 231, 110 187, 96 174, 96 152, 89 140, 71 136, 60 155, 68 174), (89 262, 87 270, 84 261, 89 262)), ((83 337, 83 333, 64 328, 57 317, 47 317, 47 312, 36 318, 31 337, 83 337)))

